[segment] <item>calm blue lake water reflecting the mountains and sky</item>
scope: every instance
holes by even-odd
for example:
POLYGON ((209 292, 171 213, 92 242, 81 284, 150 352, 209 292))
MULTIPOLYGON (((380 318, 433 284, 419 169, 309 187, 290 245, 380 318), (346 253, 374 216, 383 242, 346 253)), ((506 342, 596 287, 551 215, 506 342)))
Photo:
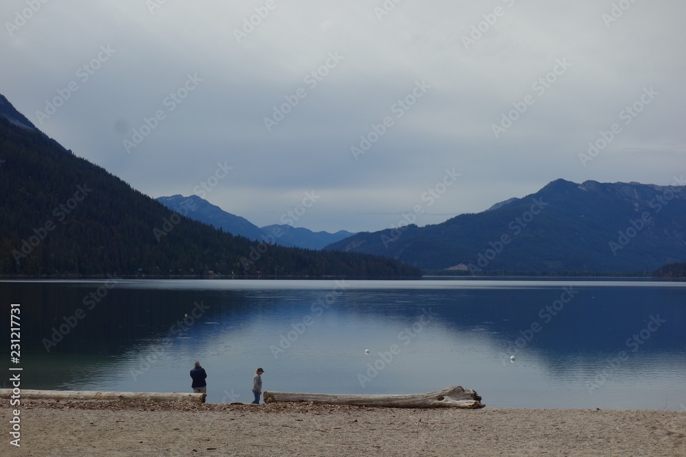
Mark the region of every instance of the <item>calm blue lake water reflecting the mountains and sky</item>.
POLYGON ((5 281, 0 296, 3 322, 21 304, 22 388, 189 392, 197 359, 213 403, 252 401, 262 367, 265 391, 461 385, 487 407, 686 410, 684 282, 5 281))

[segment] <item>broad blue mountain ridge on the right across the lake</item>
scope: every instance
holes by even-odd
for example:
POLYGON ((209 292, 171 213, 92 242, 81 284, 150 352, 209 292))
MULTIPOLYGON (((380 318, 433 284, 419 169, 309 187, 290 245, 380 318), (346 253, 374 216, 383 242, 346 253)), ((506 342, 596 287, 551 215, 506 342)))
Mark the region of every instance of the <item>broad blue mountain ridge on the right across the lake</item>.
POLYGON ((686 259, 686 184, 555 180, 443 223, 363 232, 325 249, 424 270, 652 271, 686 259))

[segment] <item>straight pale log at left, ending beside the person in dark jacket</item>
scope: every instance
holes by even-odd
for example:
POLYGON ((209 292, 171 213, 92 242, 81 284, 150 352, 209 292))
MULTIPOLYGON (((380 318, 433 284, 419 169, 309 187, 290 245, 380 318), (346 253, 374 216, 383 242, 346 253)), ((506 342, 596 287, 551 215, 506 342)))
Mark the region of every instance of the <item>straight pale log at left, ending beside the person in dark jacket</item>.
MULTIPOLYGON (((0 398, 10 398, 11 388, 0 389, 0 398)), ((95 391, 33 391, 21 389, 23 399, 48 400, 128 400, 132 402, 190 402, 204 403, 206 393, 158 392, 95 392, 95 391)))

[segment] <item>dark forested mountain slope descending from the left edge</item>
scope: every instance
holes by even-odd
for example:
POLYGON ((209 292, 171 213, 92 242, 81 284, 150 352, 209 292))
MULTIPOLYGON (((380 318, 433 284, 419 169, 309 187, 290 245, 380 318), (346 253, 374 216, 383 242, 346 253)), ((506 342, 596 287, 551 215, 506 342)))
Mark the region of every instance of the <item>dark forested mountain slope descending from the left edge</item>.
POLYGON ((397 260, 233 236, 132 188, 0 97, 0 275, 417 277, 397 260))

